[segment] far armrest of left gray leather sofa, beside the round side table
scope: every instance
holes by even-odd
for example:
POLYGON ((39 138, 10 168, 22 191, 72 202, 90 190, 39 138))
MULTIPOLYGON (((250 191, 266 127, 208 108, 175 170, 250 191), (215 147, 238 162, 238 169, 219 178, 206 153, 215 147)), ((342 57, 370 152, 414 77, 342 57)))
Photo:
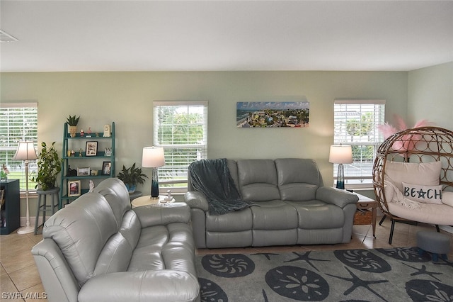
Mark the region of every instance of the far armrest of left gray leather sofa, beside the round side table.
POLYGON ((137 213, 142 228, 190 221, 190 208, 182 202, 138 206, 132 211, 137 213))

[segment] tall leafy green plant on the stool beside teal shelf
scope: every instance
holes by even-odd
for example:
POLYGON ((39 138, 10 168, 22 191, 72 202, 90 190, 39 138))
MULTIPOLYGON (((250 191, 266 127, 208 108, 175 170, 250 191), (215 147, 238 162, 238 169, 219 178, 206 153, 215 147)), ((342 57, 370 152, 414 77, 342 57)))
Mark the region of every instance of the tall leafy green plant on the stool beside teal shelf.
POLYGON ((57 175, 62 170, 62 162, 58 158, 54 145, 55 142, 52 142, 52 147, 47 147, 45 142, 41 143, 42 149, 38 158, 38 175, 32 179, 32 181, 38 183, 35 188, 40 186, 44 191, 55 188, 57 175))

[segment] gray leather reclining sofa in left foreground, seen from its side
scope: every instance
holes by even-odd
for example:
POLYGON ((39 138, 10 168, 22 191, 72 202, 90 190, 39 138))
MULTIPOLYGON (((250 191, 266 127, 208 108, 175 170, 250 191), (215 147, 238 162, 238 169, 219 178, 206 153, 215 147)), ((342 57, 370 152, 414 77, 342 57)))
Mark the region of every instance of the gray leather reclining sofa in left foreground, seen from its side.
POLYGON ((49 301, 199 301, 185 203, 130 208, 105 179, 46 221, 32 253, 49 301))

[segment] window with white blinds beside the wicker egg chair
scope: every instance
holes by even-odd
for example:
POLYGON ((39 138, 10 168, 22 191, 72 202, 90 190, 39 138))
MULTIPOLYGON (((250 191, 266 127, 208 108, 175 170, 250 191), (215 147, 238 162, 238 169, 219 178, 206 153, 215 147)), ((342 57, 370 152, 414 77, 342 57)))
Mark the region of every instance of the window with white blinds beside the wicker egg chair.
MULTIPOLYGON (((383 137, 377 125, 384 124, 384 100, 336 100, 334 105, 334 143, 352 146, 352 164, 344 164, 345 185, 372 186, 374 157, 383 137)), ((336 179, 338 164, 334 164, 336 179)))

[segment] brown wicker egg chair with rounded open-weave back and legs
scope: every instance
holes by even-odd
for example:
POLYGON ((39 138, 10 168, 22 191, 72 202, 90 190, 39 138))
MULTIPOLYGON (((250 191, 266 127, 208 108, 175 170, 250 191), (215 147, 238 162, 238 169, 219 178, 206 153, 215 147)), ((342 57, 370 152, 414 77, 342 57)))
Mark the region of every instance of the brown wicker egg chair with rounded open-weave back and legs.
MULTIPOLYGON (((451 211, 450 218, 447 218, 447 225, 453 225, 453 206, 430 207, 429 210, 435 210, 432 215, 430 214, 431 211, 424 211, 423 219, 413 220, 413 213, 415 213, 411 212, 414 211, 413 209, 407 209, 408 216, 401 214, 401 211, 396 216, 391 211, 395 203, 387 200, 385 186, 388 184, 386 181, 389 177, 386 174, 386 166, 389 162, 419 164, 436 161, 442 162, 439 181, 439 184, 442 185, 442 191, 453 191, 453 132, 451 130, 437 127, 411 128, 391 135, 379 146, 373 165, 373 185, 379 208, 384 213, 384 218, 379 225, 386 217, 391 219, 389 244, 391 244, 396 221, 430 223, 436 225, 437 231, 439 231, 438 225, 446 222, 445 217, 443 220, 440 220, 439 217, 443 216, 446 211, 447 213, 451 211), (434 213, 442 215, 434 215, 434 213)), ((423 177, 420 177, 420 181, 423 181, 423 177)), ((423 204, 422 206, 427 205, 423 204)))

